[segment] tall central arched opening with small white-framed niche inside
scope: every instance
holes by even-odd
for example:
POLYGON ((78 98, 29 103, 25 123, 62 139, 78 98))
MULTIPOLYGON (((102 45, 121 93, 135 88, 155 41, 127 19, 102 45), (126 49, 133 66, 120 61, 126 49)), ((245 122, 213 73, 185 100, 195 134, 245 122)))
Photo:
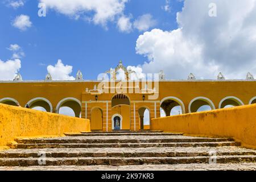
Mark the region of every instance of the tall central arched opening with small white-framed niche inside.
POLYGON ((112 98, 112 130, 130 130, 130 100, 125 94, 112 98))

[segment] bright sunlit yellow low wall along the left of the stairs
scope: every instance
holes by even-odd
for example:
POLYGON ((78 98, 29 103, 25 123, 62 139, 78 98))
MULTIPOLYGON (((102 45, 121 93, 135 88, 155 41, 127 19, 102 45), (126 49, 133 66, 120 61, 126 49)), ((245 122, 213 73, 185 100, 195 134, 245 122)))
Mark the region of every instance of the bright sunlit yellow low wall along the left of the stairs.
POLYGON ((0 146, 6 146, 15 137, 53 136, 80 131, 90 131, 89 119, 0 104, 0 146))

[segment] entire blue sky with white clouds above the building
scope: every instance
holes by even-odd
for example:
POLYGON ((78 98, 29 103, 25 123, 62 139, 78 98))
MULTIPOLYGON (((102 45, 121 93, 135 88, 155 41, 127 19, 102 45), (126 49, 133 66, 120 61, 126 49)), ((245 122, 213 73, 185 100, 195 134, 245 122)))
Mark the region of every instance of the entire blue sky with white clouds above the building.
POLYGON ((91 80, 119 60, 169 80, 256 74, 256 0, 3 0, 0 17, 0 80, 91 80))

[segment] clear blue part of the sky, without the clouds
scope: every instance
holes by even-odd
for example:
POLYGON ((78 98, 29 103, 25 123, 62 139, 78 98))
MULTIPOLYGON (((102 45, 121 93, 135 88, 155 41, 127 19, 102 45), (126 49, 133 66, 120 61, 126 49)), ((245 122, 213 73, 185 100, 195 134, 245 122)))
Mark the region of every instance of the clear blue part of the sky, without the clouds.
MULTIPOLYGON (((115 22, 108 22, 106 27, 82 19, 74 19, 47 9, 46 17, 38 16, 39 1, 26 0, 16 9, 9 6, 9 1, 0 4, 0 59, 11 59, 10 44, 18 44, 25 56, 20 58, 20 74, 23 80, 42 80, 47 74, 47 66, 55 65, 58 59, 63 64, 72 65, 72 75, 80 69, 85 79, 96 79, 98 73, 115 67, 119 60, 123 64, 139 65, 147 59, 135 51, 138 36, 143 32, 119 31, 115 22), (16 16, 30 16, 32 26, 20 31, 12 25, 16 16), (107 30, 108 29, 108 30, 107 30)), ((173 30, 177 28, 176 13, 183 7, 183 2, 171 1, 129 1, 124 14, 136 19, 150 14, 156 24, 152 28, 173 30), (171 11, 164 11, 163 6, 170 3, 171 11)), ((90 13, 93 14, 93 13, 90 13)))

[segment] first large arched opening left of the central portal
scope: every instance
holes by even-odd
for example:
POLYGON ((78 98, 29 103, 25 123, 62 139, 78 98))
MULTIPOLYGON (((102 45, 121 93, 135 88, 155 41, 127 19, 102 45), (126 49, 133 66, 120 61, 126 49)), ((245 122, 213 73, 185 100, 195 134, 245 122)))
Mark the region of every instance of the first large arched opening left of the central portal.
POLYGON ((68 97, 61 100, 56 106, 56 113, 69 116, 81 117, 81 101, 77 98, 68 97), (72 111, 73 113, 72 113, 72 111))

